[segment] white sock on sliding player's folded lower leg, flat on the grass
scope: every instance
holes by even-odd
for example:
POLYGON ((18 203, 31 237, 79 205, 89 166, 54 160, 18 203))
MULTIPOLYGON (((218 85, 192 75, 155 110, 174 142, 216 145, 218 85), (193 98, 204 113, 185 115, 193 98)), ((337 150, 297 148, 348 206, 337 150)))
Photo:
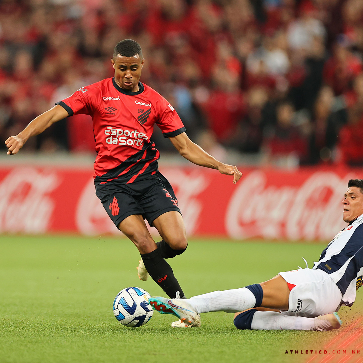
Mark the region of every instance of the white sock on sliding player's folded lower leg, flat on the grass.
POLYGON ((251 323, 255 330, 311 330, 315 318, 293 317, 277 311, 256 311, 251 323))

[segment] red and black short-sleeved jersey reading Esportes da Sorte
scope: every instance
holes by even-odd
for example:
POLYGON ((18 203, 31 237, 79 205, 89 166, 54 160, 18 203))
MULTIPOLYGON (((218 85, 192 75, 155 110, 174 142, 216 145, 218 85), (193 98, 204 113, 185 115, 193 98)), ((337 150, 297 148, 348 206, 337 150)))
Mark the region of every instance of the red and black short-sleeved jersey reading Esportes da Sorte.
POLYGON ((139 91, 131 92, 119 87, 114 78, 103 79, 80 88, 56 105, 64 107, 69 116, 92 116, 96 185, 111 180, 132 183, 136 178, 155 174, 159 151, 150 140, 155 123, 166 138, 185 131, 170 103, 141 82, 139 91))

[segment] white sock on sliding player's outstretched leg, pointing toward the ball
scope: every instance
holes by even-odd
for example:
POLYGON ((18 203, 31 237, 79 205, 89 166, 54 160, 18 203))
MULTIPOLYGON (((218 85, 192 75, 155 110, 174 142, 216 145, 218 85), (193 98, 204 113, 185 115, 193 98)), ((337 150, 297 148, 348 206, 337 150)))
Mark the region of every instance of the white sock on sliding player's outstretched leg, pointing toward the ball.
POLYGON ((208 311, 225 311, 238 313, 254 307, 256 298, 246 287, 234 290, 213 291, 212 293, 193 296, 186 301, 194 307, 198 314, 208 311))

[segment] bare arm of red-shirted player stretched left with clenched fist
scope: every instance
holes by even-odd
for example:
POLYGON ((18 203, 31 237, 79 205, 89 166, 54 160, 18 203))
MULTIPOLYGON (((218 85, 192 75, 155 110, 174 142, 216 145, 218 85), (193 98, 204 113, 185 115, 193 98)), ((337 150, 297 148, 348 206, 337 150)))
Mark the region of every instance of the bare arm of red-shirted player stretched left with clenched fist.
POLYGON ((60 121, 68 117, 68 112, 62 106, 54 106, 50 110, 45 111, 38 117, 34 118, 28 126, 25 127, 16 136, 10 136, 5 140, 8 148, 8 155, 15 155, 24 146, 26 141, 31 137, 41 134, 45 129, 48 129, 54 122, 60 121))

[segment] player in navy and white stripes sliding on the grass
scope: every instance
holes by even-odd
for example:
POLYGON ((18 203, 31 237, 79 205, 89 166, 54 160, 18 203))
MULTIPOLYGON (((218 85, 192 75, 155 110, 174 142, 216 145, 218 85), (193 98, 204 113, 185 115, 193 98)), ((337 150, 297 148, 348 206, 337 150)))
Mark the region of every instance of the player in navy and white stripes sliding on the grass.
POLYGON ((266 282, 214 291, 190 299, 152 297, 151 306, 180 320, 173 326, 200 326, 200 313, 236 313, 237 329, 332 330, 337 311, 352 306, 363 278, 363 180, 351 179, 343 199, 342 229, 312 269, 280 272, 266 282))

